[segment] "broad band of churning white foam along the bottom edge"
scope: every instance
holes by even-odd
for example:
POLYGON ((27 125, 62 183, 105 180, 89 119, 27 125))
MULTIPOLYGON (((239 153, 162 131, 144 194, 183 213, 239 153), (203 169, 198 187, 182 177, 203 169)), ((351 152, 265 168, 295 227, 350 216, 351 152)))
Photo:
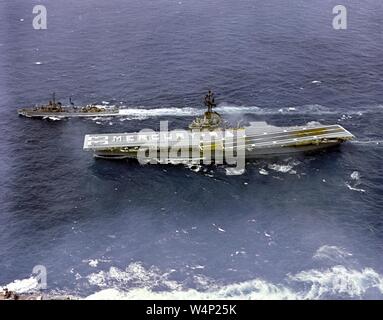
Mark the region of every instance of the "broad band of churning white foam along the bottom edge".
MULTIPOLYGON (((325 245, 316 251, 313 258, 346 263, 345 258, 351 255, 344 249, 325 245)), ((255 278, 221 284, 197 274, 193 277, 196 288, 185 288, 182 283, 170 280, 172 271, 161 273, 158 268, 146 269, 140 263, 133 263, 125 270, 112 267, 109 271, 93 273, 88 276, 89 283, 101 290, 86 299, 362 298, 367 291, 375 291, 379 297, 383 295, 381 274, 372 268, 353 269, 340 264, 289 274, 282 283, 255 278)))

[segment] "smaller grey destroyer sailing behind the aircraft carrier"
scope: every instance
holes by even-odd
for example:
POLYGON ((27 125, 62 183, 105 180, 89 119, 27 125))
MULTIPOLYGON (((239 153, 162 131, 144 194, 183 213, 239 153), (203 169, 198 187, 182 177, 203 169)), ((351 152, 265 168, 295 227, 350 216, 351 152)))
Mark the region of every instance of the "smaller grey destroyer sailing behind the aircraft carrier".
POLYGON ((109 117, 119 115, 119 109, 114 107, 105 107, 97 105, 87 105, 85 107, 76 107, 69 99, 70 106, 63 106, 61 102, 56 102, 55 94, 45 105, 35 106, 32 108, 23 108, 17 110, 20 116, 27 118, 43 118, 43 119, 61 119, 69 117, 109 117))

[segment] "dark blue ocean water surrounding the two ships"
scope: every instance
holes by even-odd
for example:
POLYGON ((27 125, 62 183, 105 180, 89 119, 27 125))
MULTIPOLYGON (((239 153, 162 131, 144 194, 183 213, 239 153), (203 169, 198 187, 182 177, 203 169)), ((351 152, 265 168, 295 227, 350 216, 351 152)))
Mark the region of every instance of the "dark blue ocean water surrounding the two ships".
POLYGON ((0 286, 81 298, 383 298, 380 0, 0 3, 0 286), (332 28, 332 8, 348 29, 332 28), (339 123, 337 150, 223 166, 95 160, 87 133, 183 128, 217 93, 232 124, 339 123), (33 120, 52 92, 128 108, 33 120))

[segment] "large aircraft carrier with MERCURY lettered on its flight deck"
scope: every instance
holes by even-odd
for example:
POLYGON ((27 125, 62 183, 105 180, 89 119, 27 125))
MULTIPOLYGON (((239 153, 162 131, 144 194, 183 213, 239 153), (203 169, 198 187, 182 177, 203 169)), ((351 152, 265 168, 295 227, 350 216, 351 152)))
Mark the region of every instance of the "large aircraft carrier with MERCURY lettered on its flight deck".
POLYGON ((151 151, 151 163, 178 163, 203 161, 206 154, 210 156, 217 151, 224 155, 242 154, 246 159, 315 151, 338 146, 354 137, 339 124, 276 127, 266 122, 251 122, 246 127, 230 128, 213 111, 216 104, 212 92, 209 91, 204 102, 207 111, 187 130, 87 134, 83 149, 105 159, 138 159, 143 152, 151 151), (171 152, 172 149, 176 152, 171 152))

